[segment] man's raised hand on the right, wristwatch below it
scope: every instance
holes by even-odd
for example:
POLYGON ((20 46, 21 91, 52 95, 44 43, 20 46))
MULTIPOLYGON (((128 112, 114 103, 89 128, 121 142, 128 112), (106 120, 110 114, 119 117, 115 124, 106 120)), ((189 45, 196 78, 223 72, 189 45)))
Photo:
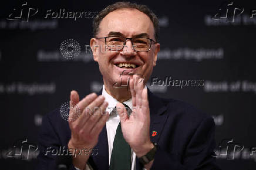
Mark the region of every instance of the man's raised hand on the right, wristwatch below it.
POLYGON ((142 157, 154 147, 149 136, 149 100, 147 99, 147 89, 144 88, 143 79, 136 79, 136 75, 133 75, 133 79, 129 83, 130 89, 133 89, 131 90, 133 112, 129 117, 123 104, 117 103, 117 113, 120 117, 124 139, 137 157, 142 157))

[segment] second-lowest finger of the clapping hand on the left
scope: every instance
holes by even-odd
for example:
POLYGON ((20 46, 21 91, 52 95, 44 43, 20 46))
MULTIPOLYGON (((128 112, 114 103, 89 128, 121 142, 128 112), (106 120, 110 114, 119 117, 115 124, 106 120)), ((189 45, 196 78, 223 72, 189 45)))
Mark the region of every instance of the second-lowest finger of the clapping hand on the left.
POLYGON ((85 131, 90 132, 92 130, 92 128, 98 123, 100 117, 102 117, 103 113, 105 113, 108 105, 109 104, 104 101, 104 103, 99 108, 97 108, 95 113, 90 115, 89 120, 87 120, 85 125, 83 126, 83 128, 85 128, 85 131))

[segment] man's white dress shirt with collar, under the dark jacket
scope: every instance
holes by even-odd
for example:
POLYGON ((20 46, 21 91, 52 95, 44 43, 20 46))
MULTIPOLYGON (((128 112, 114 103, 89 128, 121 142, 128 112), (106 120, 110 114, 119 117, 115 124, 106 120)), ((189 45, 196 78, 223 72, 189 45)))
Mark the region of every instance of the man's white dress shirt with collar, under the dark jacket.
MULTIPOLYGON (((102 96, 104 96, 105 101, 107 101, 107 103, 109 103, 109 106, 107 106, 106 111, 111 113, 111 111, 113 110, 114 107, 116 107, 116 104, 119 101, 117 101, 115 98, 113 98, 112 96, 110 96, 110 94, 107 93, 107 91, 105 90, 104 85, 102 87, 102 96)), ((126 104, 127 106, 129 106, 132 109, 132 98, 130 98, 127 101, 124 101, 123 103, 126 104)), ((109 117, 109 120, 107 120, 107 123, 106 123, 107 142, 109 144, 109 164, 110 164, 111 154, 112 154, 112 149, 113 149, 114 136, 116 135, 116 129, 117 129, 117 126, 118 126, 119 122, 120 122, 119 115, 118 114, 112 114, 109 117)), ((132 150, 131 163, 132 163, 131 170, 135 170, 136 169, 136 154, 133 152, 133 150, 132 150)), ((76 168, 76 169, 80 170, 79 168, 76 168)), ((85 169, 86 170, 91 170, 90 167, 87 164, 86 164, 85 169)))

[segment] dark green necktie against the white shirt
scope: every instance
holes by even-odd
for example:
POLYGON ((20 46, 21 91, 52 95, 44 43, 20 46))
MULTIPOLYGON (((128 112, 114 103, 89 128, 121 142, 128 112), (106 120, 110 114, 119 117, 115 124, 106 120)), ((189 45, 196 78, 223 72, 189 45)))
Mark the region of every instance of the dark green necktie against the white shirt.
MULTIPOLYGON (((126 104, 123 103, 123 105, 126 107, 126 110, 129 114, 132 113, 132 110, 126 104)), ((113 112, 116 112, 116 109, 113 109, 111 114, 114 114, 113 112)), ((129 144, 127 144, 123 138, 121 123, 119 123, 116 129, 116 135, 114 137, 109 169, 130 170, 132 167, 131 156, 132 150, 129 144)))

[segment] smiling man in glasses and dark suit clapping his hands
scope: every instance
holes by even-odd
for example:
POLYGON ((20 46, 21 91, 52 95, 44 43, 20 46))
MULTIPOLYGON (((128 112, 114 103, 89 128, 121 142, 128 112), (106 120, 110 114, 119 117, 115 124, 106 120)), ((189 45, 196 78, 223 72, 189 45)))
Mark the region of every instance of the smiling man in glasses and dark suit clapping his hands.
POLYGON ((160 49, 158 27, 144 5, 117 2, 99 12, 90 46, 103 76, 102 95, 80 100, 71 91, 68 122, 59 110, 45 116, 38 169, 56 168, 58 158, 48 148, 59 146, 79 151, 71 169, 218 169, 213 118, 146 88, 160 49))

